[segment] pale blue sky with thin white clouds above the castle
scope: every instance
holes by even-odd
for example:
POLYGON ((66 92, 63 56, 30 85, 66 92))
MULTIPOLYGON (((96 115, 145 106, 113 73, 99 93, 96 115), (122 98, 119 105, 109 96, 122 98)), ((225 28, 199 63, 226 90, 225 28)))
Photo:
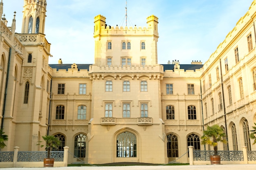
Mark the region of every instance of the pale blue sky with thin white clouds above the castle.
MULTIPOLYGON (((225 40, 253 0, 127 0, 127 26, 147 26, 158 17, 158 64, 179 60, 206 62, 225 40)), ((3 0, 11 26, 21 32, 23 0, 3 0)), ((51 43, 49 64, 94 64, 94 17, 103 15, 110 26, 125 26, 126 0, 47 0, 45 35, 51 43)))

